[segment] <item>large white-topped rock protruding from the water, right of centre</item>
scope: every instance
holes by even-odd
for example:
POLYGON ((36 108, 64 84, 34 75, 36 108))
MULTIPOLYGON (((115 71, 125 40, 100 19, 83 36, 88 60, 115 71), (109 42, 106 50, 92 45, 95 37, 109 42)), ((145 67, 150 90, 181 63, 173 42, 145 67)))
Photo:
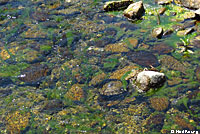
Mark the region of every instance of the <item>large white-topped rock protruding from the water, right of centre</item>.
POLYGON ((133 87, 139 92, 146 92, 150 88, 159 88, 164 85, 166 77, 163 73, 156 71, 142 71, 135 74, 134 78, 130 79, 133 87))

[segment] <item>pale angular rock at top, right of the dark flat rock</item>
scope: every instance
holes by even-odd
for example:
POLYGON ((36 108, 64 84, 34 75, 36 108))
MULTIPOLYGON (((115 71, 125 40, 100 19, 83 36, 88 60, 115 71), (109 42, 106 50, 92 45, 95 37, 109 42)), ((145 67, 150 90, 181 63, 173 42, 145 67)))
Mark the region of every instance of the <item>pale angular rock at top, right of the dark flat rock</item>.
POLYGON ((145 13, 143 2, 139 1, 128 6, 124 11, 124 16, 130 19, 140 19, 145 13))

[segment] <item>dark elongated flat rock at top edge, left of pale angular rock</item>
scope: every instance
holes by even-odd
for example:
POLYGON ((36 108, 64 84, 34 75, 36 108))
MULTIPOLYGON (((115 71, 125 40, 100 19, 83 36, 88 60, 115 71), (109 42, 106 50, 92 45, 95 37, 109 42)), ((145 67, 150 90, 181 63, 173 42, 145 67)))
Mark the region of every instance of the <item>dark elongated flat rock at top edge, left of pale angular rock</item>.
POLYGON ((126 9, 131 3, 133 3, 133 0, 109 1, 106 2, 103 9, 105 11, 123 10, 126 9))

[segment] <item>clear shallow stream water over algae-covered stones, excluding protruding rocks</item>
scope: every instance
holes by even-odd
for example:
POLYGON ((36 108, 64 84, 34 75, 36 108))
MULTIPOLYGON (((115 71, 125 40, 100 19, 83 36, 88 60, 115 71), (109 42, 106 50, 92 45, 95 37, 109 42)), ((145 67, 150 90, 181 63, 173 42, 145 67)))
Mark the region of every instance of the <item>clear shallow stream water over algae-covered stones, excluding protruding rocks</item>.
MULTIPOLYGON (((177 45, 198 30, 153 38, 157 18, 148 13, 161 6, 145 0, 143 19, 132 22, 122 11, 104 12, 105 2, 0 2, 1 133, 200 129, 200 49, 188 47, 189 53, 177 45), (131 69, 151 66, 167 77, 159 89, 138 93, 123 79, 131 69)), ((166 7, 166 14, 174 11, 166 7)), ((166 14, 160 16, 165 29, 191 21, 166 14)))

